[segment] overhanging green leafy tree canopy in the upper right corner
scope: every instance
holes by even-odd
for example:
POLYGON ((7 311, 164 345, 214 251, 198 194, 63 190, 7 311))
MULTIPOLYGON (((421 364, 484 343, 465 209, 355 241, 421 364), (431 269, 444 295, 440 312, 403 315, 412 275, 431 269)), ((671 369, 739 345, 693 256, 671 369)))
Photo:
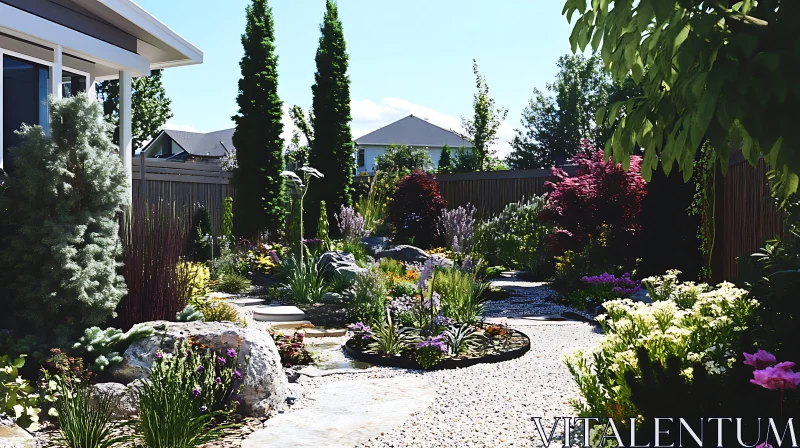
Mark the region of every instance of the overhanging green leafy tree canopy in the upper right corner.
POLYGON ((800 152, 794 115, 800 99, 796 0, 567 0, 573 51, 590 43, 615 79, 630 74, 641 97, 616 103, 598 121, 627 113, 605 146, 627 167, 638 145, 642 174, 677 163, 691 177, 704 138, 727 166, 730 147, 751 164, 765 159, 776 192, 797 190, 800 152))

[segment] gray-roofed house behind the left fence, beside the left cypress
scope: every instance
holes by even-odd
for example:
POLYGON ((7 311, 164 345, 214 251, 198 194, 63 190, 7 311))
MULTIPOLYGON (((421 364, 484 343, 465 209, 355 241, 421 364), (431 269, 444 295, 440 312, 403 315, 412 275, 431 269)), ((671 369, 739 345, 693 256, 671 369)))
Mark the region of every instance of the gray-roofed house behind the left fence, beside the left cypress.
POLYGON ((164 129, 142 151, 145 157, 185 162, 219 162, 234 152, 235 128, 201 134, 199 132, 164 129))

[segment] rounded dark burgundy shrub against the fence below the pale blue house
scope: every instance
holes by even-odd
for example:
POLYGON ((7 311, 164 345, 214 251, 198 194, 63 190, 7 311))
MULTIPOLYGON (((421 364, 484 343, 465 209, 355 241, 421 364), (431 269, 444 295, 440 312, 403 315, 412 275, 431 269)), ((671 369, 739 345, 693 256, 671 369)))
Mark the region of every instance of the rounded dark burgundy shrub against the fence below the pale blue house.
POLYGON ((397 242, 429 248, 442 243, 437 225, 447 202, 439 185, 422 171, 415 171, 397 184, 387 219, 397 242))

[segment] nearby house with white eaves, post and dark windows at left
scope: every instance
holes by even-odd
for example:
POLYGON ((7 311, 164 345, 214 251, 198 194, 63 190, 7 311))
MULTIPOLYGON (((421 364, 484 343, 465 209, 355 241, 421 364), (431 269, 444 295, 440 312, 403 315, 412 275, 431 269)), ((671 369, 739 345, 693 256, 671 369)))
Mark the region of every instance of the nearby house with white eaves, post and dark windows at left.
POLYGON ((95 94, 120 81, 120 156, 132 172, 131 79, 200 64, 203 52, 131 0, 0 0, 0 168, 22 123, 49 128, 48 95, 95 94))

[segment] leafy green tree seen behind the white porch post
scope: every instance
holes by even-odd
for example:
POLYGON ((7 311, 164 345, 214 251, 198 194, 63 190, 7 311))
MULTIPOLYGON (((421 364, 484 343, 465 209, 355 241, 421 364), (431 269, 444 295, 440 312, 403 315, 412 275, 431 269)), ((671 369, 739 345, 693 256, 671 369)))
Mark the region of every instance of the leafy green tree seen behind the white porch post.
MULTIPOLYGON (((172 100, 167 98, 161 70, 153 70, 150 76, 134 78, 131 88, 133 149, 137 150, 154 139, 172 118, 172 100)), ((103 102, 106 121, 114 126, 110 131, 112 140, 119 144, 119 80, 98 83, 97 96, 103 102)))

